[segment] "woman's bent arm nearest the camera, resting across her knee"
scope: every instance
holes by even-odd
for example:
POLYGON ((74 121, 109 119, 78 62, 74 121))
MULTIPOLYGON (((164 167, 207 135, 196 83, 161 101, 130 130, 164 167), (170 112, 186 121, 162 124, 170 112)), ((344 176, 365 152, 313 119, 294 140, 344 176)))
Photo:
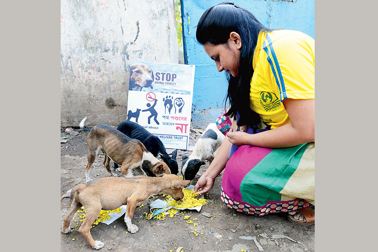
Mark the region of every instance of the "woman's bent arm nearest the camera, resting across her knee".
POLYGON ((291 123, 258 134, 230 131, 229 142, 234 145, 253 145, 266 148, 291 147, 315 139, 315 102, 284 99, 283 104, 291 123))

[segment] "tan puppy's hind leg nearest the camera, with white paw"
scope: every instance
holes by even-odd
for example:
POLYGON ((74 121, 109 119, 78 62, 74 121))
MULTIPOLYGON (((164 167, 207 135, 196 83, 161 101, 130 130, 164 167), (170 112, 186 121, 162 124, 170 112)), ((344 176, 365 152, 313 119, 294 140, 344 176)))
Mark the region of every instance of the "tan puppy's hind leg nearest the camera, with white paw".
POLYGON ((91 226, 93 222, 97 219, 101 212, 101 204, 93 204, 85 208, 85 219, 83 224, 79 228, 79 232, 87 239, 89 244, 96 249, 100 249, 105 244, 99 240, 94 240, 91 235, 91 226))

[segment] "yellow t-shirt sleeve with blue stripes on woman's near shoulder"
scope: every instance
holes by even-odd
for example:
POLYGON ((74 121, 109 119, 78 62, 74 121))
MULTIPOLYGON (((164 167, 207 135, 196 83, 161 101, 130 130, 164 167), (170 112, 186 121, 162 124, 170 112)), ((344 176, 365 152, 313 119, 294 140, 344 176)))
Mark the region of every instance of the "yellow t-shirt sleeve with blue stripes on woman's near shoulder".
MULTIPOLYGON (((269 38, 268 38, 269 41, 269 38)), ((264 48, 267 68, 280 100, 314 99, 314 40, 308 35, 283 36, 264 48)))

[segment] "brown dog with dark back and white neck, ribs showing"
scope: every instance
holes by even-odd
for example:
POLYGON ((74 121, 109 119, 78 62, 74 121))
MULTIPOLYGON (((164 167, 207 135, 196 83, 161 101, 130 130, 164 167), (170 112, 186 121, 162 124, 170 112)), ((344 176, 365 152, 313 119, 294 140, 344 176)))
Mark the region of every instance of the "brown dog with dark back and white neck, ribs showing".
POLYGON ((87 147, 88 164, 85 169, 87 182, 91 180, 91 166, 100 149, 105 154, 103 164, 113 176, 117 175, 110 170, 110 160, 120 165, 120 172, 125 177, 132 177, 133 169, 138 169, 141 175, 148 176, 171 173, 166 163, 154 157, 139 140, 131 139, 105 124, 92 128, 87 137, 87 147))

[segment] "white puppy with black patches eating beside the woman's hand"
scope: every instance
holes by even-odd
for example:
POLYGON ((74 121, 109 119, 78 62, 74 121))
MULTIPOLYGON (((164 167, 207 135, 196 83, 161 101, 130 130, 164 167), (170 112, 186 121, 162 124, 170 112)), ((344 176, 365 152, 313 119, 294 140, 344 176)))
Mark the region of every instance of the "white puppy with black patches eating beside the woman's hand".
POLYGON ((192 154, 187 157, 182 155, 181 173, 184 179, 193 180, 205 164, 205 160, 210 163, 213 161, 214 152, 221 146, 224 135, 218 130, 215 123, 210 123, 205 132, 194 146, 192 154))

